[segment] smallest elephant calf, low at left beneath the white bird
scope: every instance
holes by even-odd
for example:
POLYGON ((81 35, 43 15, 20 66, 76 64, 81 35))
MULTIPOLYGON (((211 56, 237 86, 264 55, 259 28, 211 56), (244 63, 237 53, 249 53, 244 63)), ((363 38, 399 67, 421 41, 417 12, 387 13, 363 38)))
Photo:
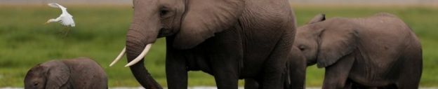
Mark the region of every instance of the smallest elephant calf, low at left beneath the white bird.
POLYGON ((86 57, 51 60, 27 71, 25 89, 106 89, 107 75, 86 57))

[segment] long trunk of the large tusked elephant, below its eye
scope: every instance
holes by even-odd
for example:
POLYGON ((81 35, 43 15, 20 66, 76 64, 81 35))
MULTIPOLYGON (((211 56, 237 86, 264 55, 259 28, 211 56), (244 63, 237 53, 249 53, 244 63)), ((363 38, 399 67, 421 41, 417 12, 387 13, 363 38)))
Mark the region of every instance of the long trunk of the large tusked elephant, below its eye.
POLYGON ((145 54, 152 43, 157 40, 159 32, 159 25, 155 25, 159 22, 154 22, 153 20, 151 22, 152 23, 147 25, 139 25, 134 20, 133 24, 131 24, 128 33, 126 34, 126 56, 128 57, 128 62, 130 62, 126 66, 130 66, 135 79, 137 79, 143 87, 147 89, 161 89, 161 85, 152 78, 150 73, 144 67, 145 63, 143 62, 145 54))

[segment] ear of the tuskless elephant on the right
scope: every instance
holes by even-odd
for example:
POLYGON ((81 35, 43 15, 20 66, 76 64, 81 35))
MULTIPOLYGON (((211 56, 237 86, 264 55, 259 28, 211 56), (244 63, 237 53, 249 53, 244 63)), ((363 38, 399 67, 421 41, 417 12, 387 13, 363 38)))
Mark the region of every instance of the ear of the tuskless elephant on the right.
POLYGON ((328 22, 329 26, 319 35, 317 66, 328 67, 357 48, 359 36, 349 22, 328 22), (331 24, 330 24, 331 23, 331 24))

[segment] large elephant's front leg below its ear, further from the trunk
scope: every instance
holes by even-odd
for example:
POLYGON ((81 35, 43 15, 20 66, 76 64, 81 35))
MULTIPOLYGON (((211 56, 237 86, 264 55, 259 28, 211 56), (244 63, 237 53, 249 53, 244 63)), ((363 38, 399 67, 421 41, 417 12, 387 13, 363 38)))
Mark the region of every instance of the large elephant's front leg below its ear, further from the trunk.
MULTIPOLYGON (((231 29, 238 29, 234 27, 231 29)), ((205 41, 208 43, 208 59, 218 89, 237 89, 239 72, 243 67, 243 46, 240 30, 228 30, 205 41)))

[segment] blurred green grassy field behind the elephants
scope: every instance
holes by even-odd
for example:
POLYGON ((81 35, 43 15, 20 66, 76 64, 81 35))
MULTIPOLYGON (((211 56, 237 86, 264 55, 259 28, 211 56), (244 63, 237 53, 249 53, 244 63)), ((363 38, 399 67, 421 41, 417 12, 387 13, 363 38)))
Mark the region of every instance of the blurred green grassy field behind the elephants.
MULTIPOLYGON (((44 25, 60 11, 48 6, 0 6, 0 88, 22 87, 29 68, 55 59, 91 57, 107 71, 111 87, 139 86, 126 60, 108 67, 125 44, 125 34, 132 20, 131 6, 67 6, 77 22, 64 35, 59 24, 44 25)), ((317 13, 332 17, 362 17, 378 12, 398 15, 420 37, 423 44, 424 69, 421 86, 438 86, 438 8, 430 7, 352 7, 352 6, 293 6, 298 25, 317 13)), ((147 69, 161 85, 164 74, 164 39, 159 39, 147 55, 147 69)), ((307 86, 320 86, 324 69, 309 67, 307 86)), ((213 77, 200 71, 190 72, 190 85, 215 85, 213 77)), ((243 83, 243 82, 239 82, 243 83)))

